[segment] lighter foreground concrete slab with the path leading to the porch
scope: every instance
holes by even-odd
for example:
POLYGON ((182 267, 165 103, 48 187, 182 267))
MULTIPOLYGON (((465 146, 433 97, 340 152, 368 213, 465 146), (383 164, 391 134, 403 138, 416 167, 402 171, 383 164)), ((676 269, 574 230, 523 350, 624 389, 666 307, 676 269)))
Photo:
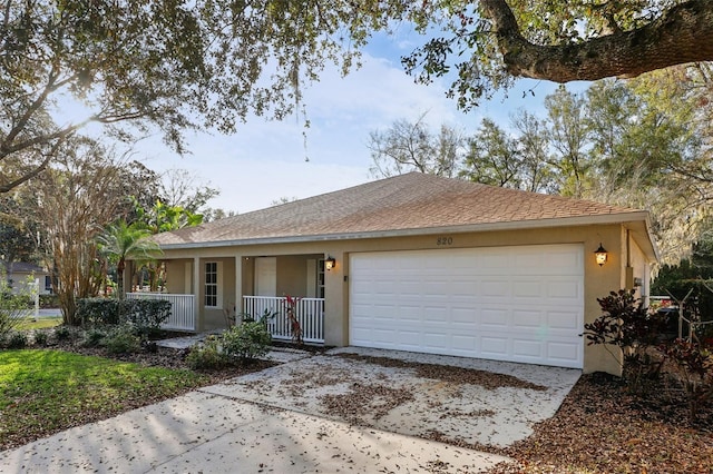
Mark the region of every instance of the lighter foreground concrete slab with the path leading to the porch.
MULTIPOLYGON (((283 367, 311 358, 291 356, 283 367)), ((250 402, 242 378, 1 452, 0 473, 477 473, 511 461, 250 402)))

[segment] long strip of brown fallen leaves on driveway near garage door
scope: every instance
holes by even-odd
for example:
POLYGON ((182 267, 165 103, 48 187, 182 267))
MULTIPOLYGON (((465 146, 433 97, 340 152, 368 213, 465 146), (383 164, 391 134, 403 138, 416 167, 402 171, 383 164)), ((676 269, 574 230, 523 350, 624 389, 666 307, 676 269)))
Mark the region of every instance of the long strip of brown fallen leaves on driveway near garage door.
POLYGON ((419 377, 450 382, 452 384, 479 385, 488 389, 514 387, 529 388, 540 392, 547 391, 547 387, 543 385, 533 384, 531 382, 522 381, 521 378, 514 377, 512 375, 497 374, 475 368, 455 367, 440 364, 423 364, 391 357, 365 356, 349 353, 333 354, 332 356, 380 365, 382 367, 410 368, 416 371, 416 375, 419 377))

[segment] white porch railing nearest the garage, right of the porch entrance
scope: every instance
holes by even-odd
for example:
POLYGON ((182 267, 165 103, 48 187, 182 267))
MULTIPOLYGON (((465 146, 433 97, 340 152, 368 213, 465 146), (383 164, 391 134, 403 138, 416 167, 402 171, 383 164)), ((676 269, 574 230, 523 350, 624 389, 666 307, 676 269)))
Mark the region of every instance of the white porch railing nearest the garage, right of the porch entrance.
MULTIPOLYGON (((243 296, 243 313, 255 319, 265 314, 267 328, 275 339, 291 340, 292 325, 287 318, 287 298, 284 296, 243 296)), ((301 298, 295 307, 295 316, 302 328, 305 343, 324 343, 324 298, 301 298)))

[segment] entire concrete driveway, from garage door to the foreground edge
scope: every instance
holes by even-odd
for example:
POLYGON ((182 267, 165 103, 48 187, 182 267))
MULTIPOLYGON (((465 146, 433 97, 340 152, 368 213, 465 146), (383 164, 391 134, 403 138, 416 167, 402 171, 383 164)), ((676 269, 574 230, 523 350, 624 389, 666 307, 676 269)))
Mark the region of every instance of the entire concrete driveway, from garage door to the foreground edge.
POLYGON ((482 472, 508 460, 419 436, 507 445, 579 375, 352 348, 293 358, 2 452, 0 472, 482 472))

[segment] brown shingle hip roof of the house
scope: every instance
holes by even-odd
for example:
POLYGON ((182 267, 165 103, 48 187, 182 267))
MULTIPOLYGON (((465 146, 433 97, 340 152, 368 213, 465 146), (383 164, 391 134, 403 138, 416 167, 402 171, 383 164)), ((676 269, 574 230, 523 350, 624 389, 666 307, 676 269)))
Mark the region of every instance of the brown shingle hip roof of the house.
POLYGON ((410 172, 160 234, 155 240, 162 246, 180 247, 631 213, 636 210, 410 172))

